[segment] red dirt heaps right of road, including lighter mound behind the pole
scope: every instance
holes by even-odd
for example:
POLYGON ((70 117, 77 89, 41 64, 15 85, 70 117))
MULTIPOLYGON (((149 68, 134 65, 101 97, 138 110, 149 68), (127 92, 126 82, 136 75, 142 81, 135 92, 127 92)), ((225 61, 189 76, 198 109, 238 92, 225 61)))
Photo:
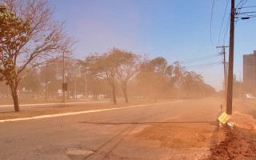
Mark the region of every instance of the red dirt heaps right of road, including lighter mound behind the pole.
POLYGON ((226 138, 219 146, 211 148, 212 155, 207 160, 256 159, 256 121, 246 114, 234 113, 230 119, 234 129, 224 126, 226 138))

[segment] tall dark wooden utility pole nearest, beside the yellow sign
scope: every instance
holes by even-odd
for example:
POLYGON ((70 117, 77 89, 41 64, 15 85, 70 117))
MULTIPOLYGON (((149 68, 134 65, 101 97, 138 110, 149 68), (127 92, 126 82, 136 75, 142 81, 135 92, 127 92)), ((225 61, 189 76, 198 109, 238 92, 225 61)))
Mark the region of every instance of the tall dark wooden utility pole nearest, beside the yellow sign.
POLYGON ((227 82, 226 96, 226 113, 232 114, 232 94, 233 94, 233 66, 234 66, 234 0, 231 0, 230 14, 230 55, 229 55, 229 72, 227 82))

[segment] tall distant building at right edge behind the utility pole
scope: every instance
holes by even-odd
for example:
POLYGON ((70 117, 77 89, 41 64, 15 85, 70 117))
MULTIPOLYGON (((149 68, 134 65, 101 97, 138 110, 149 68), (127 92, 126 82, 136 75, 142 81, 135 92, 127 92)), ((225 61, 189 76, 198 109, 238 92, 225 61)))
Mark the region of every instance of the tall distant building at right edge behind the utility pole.
POLYGON ((254 54, 243 55, 243 84, 246 92, 255 93, 256 89, 256 50, 254 54))

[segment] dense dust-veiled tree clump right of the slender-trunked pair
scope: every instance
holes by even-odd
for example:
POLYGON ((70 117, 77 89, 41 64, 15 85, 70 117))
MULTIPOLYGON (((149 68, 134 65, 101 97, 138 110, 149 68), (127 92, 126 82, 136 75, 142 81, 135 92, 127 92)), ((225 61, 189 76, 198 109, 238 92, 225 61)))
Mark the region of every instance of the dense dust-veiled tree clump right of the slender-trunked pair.
POLYGON ((169 65, 162 57, 144 60, 136 80, 142 94, 154 100, 215 94, 214 88, 203 82, 202 75, 186 71, 179 62, 169 65))

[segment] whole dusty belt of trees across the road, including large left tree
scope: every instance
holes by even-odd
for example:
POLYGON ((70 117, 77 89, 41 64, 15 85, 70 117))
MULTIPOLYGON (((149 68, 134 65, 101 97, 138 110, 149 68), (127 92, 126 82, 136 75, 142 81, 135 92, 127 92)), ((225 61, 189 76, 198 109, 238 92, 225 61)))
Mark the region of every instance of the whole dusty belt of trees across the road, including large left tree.
POLYGON ((186 70, 175 59, 170 63, 118 48, 73 58, 77 41, 66 33, 63 22, 53 19, 54 6, 48 1, 0 2, 0 98, 12 98, 17 112, 20 99, 60 101, 63 78, 68 85, 67 99, 111 98, 116 104, 117 98, 128 103, 131 98, 157 101, 222 96, 201 74, 186 70))

